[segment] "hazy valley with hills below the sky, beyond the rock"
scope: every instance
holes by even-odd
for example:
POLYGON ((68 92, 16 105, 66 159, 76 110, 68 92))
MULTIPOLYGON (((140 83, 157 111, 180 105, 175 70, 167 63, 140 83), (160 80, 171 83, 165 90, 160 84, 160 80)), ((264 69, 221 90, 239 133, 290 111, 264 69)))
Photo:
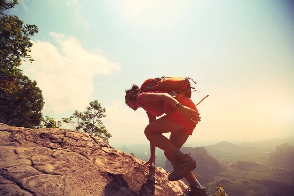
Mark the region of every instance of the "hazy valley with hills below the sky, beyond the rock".
MULTIPOLYGON (((191 153, 196 160, 193 173, 209 194, 221 183, 228 196, 293 196, 293 145, 292 137, 242 144, 222 141, 181 150, 191 153)), ((120 150, 133 153, 143 161, 150 157, 149 145, 124 146, 120 150)), ((172 172, 172 165, 159 148, 156 148, 155 162, 156 167, 172 172)))

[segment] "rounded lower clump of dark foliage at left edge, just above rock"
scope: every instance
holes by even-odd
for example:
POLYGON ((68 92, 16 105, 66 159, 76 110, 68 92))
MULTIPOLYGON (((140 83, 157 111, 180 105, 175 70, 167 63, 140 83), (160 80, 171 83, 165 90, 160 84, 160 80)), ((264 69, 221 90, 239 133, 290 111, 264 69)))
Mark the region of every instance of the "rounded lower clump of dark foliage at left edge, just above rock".
POLYGON ((44 106, 42 91, 27 76, 18 74, 13 80, 0 82, 0 123, 36 128, 44 106))

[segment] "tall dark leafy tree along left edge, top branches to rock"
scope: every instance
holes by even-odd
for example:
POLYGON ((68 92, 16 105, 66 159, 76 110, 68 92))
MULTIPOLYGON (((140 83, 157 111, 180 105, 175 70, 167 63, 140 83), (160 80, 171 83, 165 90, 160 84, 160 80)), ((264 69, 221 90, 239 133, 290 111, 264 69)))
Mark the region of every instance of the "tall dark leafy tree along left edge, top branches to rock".
POLYGON ((44 106, 42 91, 18 67, 22 60, 33 61, 28 54, 33 45, 30 37, 38 27, 4 14, 16 4, 17 0, 0 0, 0 123, 36 128, 44 106))

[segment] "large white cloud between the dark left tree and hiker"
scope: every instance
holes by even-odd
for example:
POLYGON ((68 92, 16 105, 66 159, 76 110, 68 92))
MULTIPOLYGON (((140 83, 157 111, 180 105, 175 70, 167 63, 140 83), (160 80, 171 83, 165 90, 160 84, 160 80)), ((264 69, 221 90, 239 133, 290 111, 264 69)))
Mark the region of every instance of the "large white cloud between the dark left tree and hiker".
POLYGON ((50 35, 61 51, 49 42, 33 42, 30 55, 35 61, 25 63, 21 69, 37 81, 44 97, 44 110, 82 110, 93 93, 93 77, 121 70, 121 66, 100 54, 87 52, 74 37, 53 32, 50 35))

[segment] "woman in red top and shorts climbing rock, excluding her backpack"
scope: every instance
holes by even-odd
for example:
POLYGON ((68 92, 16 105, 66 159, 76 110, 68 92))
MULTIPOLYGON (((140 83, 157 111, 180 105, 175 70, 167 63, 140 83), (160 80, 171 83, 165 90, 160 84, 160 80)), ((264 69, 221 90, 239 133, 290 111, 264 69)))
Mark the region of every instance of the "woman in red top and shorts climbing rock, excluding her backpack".
POLYGON ((125 93, 126 105, 134 111, 139 107, 143 108, 149 118, 144 134, 150 141, 151 156, 145 165, 152 166, 152 163, 155 165, 155 148, 158 147, 164 150, 164 155, 173 166, 168 180, 175 181, 184 177, 190 184, 182 196, 208 196, 206 189, 200 185, 192 172, 196 168, 196 161, 189 154, 180 151, 189 135, 192 135, 198 121, 201 120, 192 100, 184 97, 181 102, 178 102, 165 91, 140 93, 137 85, 133 85, 125 93), (163 113, 166 115, 156 119, 163 113), (171 132, 169 139, 162 135, 168 132, 171 132))

